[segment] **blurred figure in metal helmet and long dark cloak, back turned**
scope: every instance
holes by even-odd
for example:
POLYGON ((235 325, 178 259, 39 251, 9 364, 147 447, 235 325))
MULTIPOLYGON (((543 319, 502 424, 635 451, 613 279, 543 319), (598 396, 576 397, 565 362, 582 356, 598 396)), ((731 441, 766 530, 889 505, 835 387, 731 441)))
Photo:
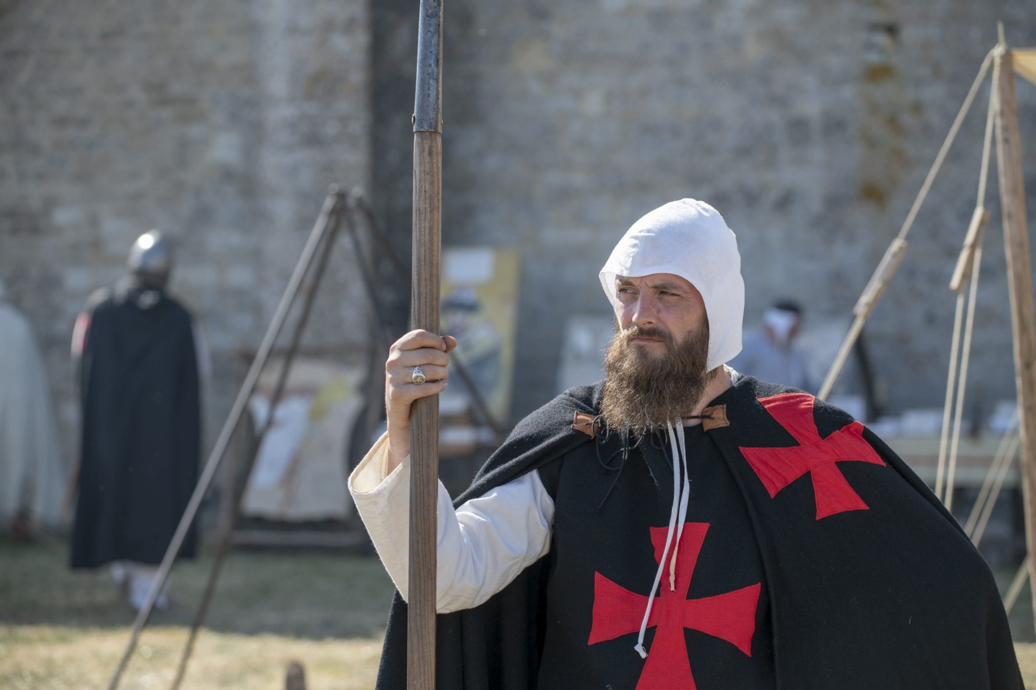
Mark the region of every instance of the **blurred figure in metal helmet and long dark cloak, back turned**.
MULTIPOLYGON (((198 480, 206 358, 191 313, 166 292, 172 265, 161 233, 141 235, 130 274, 90 297, 73 334, 83 414, 71 567, 112 564, 137 609, 198 480)), ((180 557, 196 542, 192 529, 180 557)), ((155 605, 169 605, 165 590, 155 605)))

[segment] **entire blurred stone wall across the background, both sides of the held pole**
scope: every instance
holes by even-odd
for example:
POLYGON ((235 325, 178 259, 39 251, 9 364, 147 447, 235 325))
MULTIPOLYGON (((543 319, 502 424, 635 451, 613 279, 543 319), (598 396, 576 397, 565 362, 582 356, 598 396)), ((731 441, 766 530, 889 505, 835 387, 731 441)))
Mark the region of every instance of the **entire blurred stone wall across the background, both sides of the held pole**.
MULTIPOLYGON (((174 291, 214 355, 211 434, 329 182, 366 187, 408 254, 414 3, 88 4, 0 0, 0 274, 42 342, 70 449, 76 311, 121 273, 139 232, 172 233, 174 291)), ((514 416, 555 392, 566 318, 607 313, 596 274, 617 237, 680 197, 709 201, 738 233, 748 325, 794 297, 811 323, 847 326, 997 20, 1032 44, 1030 14, 1024 0, 450 3, 443 240, 523 251, 514 416)), ((975 202, 986 96, 868 327, 893 409, 941 404, 945 286, 975 202)), ((1031 86, 1018 104, 1025 134, 1031 86)), ((1032 143, 1024 163, 1036 188, 1032 143)), ((988 193, 996 209, 996 176, 988 193)), ((995 211, 975 400, 1013 394, 1001 247, 995 211)), ((308 344, 354 357, 348 344, 369 333, 347 244, 333 267, 308 344)), ((377 269, 402 332, 404 286, 377 269)))

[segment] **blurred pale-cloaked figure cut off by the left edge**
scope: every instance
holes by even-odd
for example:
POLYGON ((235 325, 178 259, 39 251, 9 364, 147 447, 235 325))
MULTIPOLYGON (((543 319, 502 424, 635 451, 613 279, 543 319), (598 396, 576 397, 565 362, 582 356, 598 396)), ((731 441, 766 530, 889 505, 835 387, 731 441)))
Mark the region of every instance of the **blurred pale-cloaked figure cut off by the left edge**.
POLYGON ((0 526, 16 541, 60 522, 66 468, 47 371, 29 321, 0 280, 0 526))

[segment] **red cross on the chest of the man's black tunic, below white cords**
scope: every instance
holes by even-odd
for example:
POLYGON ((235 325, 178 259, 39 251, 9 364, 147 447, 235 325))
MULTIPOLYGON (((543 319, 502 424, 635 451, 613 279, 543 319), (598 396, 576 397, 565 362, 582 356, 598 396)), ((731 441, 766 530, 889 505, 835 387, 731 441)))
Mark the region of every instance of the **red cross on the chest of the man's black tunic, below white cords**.
MULTIPOLYGON (((656 627, 637 690, 688 688, 694 690, 691 662, 687 656, 684 628, 730 642, 752 656, 752 634, 755 632, 755 606, 759 600, 759 584, 752 584, 726 594, 701 599, 688 599, 694 565, 706 540, 708 522, 687 522, 677 549, 675 589, 669 590, 668 568, 663 573, 661 596, 655 599, 648 627, 656 627)), ((652 528, 655 562, 662 560, 666 528, 652 528)), ((671 551, 670 551, 671 554, 671 551)), ((671 556, 669 557, 671 558, 671 556)), ((666 561, 669 560, 666 559, 666 561)), ((594 624, 589 644, 640 630, 648 597, 634 594, 615 584, 601 573, 594 573, 594 624)), ((632 654, 632 650, 630 654, 632 654)))

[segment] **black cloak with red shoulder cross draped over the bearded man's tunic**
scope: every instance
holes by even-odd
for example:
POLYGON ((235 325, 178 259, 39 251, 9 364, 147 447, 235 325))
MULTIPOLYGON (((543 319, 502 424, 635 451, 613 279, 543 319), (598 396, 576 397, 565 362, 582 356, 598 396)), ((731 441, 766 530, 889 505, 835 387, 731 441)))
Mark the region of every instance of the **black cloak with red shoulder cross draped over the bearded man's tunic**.
MULTIPOLYGON (((591 442, 574 415, 598 414, 601 386, 566 391, 522 420, 455 505, 531 470, 553 496, 552 466, 591 442)), ((775 687, 1021 690, 988 567, 888 446, 841 410, 751 377, 710 408, 707 434, 762 560, 775 687)), ((554 687, 538 679, 551 563, 548 553, 484 604, 437 617, 437 687, 554 687)), ((377 687, 405 683, 397 592, 377 687)))

